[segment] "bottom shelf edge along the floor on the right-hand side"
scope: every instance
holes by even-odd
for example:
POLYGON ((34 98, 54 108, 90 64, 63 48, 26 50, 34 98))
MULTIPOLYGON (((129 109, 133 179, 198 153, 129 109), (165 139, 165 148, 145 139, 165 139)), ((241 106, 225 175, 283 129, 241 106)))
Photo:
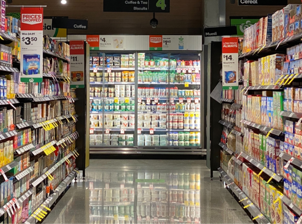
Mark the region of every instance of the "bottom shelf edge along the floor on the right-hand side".
MULTIPOLYGON (((244 192, 234 183, 234 181, 223 171, 222 168, 218 168, 218 172, 220 175, 221 180, 223 180, 226 185, 233 191, 233 193, 239 198, 239 200, 243 200, 244 198, 248 198, 247 200, 243 200, 241 203, 244 206, 247 206, 253 203, 249 197, 244 194, 244 192)), ((246 208, 249 213, 251 213, 252 217, 258 217, 255 219, 257 223, 269 223, 269 220, 260 212, 259 208, 257 208, 254 204, 246 208), (261 216, 262 217, 259 217, 261 216)))

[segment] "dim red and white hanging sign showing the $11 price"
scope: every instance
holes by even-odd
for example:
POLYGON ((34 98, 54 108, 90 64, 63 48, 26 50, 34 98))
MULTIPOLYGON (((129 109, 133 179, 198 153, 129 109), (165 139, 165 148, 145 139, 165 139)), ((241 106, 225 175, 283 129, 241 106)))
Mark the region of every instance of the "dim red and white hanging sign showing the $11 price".
POLYGON ((70 88, 85 87, 85 43, 83 40, 71 40, 70 42, 70 88))

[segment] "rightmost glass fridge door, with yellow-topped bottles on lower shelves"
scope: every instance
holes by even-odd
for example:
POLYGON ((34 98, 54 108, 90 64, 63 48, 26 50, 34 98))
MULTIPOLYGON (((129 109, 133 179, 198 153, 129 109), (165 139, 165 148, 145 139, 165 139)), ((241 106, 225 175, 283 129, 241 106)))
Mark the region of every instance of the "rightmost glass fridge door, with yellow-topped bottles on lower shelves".
POLYGON ((200 147, 201 79, 199 53, 170 53, 168 145, 200 147))

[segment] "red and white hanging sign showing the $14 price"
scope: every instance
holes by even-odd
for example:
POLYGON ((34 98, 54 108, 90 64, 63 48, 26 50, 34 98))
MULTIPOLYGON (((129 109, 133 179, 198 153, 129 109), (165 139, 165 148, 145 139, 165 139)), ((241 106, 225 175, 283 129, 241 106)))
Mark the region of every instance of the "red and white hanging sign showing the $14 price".
POLYGON ((222 86, 238 89, 238 37, 222 38, 222 86))

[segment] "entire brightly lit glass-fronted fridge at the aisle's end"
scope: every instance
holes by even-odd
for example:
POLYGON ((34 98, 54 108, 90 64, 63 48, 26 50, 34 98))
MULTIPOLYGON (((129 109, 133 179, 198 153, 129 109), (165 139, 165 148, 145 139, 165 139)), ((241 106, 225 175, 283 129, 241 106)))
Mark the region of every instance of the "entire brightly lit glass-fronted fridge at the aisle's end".
POLYGON ((91 51, 90 148, 201 149, 200 59, 200 52, 91 51))

